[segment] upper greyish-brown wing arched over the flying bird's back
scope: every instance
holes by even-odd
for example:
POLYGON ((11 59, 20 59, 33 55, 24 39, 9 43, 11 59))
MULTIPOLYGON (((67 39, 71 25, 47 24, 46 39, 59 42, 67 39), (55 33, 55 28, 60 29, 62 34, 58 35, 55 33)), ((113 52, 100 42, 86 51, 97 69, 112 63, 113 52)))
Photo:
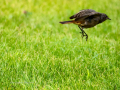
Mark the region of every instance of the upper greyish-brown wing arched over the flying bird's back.
POLYGON ((80 12, 76 13, 75 15, 71 16, 70 19, 85 19, 89 16, 92 16, 92 15, 100 15, 99 12, 96 12, 92 9, 86 9, 86 10, 81 10, 80 12))

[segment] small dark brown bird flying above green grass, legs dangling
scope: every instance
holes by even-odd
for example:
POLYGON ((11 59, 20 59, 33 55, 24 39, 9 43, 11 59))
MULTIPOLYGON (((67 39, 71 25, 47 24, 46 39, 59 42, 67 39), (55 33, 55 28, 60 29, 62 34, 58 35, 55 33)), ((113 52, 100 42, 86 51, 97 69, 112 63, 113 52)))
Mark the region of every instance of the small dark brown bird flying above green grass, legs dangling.
POLYGON ((106 14, 96 12, 92 9, 84 9, 80 10, 78 13, 72 15, 70 17, 70 21, 62 21, 61 24, 76 24, 78 25, 79 29, 81 30, 82 38, 86 36, 86 41, 88 39, 88 35, 84 31, 85 28, 91 28, 100 24, 106 20, 111 20, 106 14))

